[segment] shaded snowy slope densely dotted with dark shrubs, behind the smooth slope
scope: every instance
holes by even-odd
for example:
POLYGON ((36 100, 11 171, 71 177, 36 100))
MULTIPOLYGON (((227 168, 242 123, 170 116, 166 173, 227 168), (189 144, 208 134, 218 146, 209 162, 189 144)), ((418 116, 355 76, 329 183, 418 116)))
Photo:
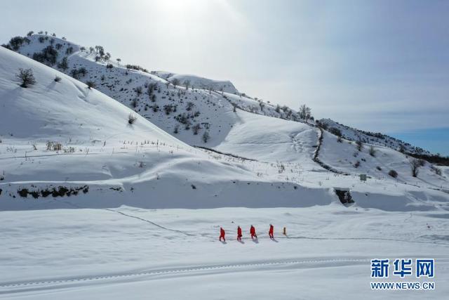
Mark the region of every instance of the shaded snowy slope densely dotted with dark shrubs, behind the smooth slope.
POLYGON ((98 59, 99 53, 96 51, 91 53, 87 48, 57 37, 35 34, 28 37, 27 41, 18 48, 18 53, 32 58, 45 48, 53 48, 55 60, 43 60, 43 63, 80 81, 95 82, 99 91, 189 145, 215 147, 222 143, 232 126, 240 120, 233 113, 234 110, 297 119, 296 112, 288 107, 276 107, 257 98, 248 98, 238 93, 229 81, 213 81, 168 72, 145 72, 138 65, 98 59), (65 59, 67 66, 61 64, 65 59), (175 78, 180 86, 169 84, 175 78), (189 89, 182 86, 185 80, 191 81, 189 89), (227 88, 223 88, 225 86, 227 88), (209 136, 207 143, 203 139, 205 132, 209 136))

